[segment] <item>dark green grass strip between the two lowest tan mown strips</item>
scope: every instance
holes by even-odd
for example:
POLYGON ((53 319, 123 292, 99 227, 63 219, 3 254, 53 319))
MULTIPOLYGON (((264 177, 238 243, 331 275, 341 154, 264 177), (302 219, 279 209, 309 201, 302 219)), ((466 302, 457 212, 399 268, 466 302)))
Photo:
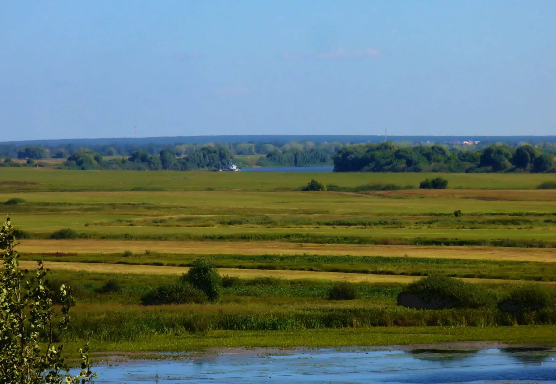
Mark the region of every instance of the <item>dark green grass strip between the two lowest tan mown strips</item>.
POLYGON ((556 281, 556 263, 495 262, 492 260, 405 258, 331 255, 199 255, 199 254, 24 254, 23 260, 54 262, 169 265, 190 267, 196 258, 210 259, 219 268, 309 270, 425 276, 439 273, 450 277, 556 281))

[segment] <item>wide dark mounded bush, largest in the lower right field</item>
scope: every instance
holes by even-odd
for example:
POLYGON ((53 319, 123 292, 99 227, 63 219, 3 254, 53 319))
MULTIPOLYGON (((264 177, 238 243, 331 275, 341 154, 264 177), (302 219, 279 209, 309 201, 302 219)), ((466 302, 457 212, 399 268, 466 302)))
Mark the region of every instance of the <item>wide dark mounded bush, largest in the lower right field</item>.
POLYGON ((398 305, 417 309, 479 308, 488 302, 488 294, 475 284, 439 275, 417 280, 398 295, 398 305))

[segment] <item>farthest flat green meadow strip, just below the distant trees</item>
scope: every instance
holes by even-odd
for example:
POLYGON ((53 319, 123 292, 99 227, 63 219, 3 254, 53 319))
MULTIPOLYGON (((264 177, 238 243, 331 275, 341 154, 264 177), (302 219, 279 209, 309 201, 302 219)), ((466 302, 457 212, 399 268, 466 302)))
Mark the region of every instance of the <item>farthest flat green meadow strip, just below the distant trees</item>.
MULTIPOLYGON (((317 179, 324 184, 355 188, 364 184, 400 184, 417 187, 434 173, 216 173, 71 171, 53 169, 2 168, 0 191, 129 191, 136 188, 161 190, 293 190, 317 179)), ((450 188, 534 189, 553 180, 549 174, 443 174, 450 188)))

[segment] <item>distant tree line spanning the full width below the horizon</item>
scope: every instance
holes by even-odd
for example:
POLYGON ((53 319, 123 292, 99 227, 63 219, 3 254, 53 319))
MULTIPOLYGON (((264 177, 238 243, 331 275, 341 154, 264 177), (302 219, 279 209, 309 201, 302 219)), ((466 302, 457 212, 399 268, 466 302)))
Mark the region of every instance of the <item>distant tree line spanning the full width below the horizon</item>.
MULTIPOLYGON (((69 169, 219 169, 234 156, 264 155, 258 166, 308 166, 334 164, 337 172, 548 172, 554 168, 556 145, 509 146, 484 142, 472 145, 382 142, 224 142, 209 144, 97 145, 58 147, 0 145, 0 166, 22 166, 47 158, 66 159, 69 169)), ((236 159, 240 161, 239 159, 236 159)), ((41 163, 37 163, 41 165, 41 163)), ((241 164, 241 161, 240 161, 241 164)))

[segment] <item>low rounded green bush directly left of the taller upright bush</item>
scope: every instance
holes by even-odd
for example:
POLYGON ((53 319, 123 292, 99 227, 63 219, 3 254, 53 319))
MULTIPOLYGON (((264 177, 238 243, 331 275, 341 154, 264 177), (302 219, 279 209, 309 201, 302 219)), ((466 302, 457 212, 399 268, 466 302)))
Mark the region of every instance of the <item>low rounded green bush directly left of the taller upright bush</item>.
POLYGON ((206 294, 187 282, 162 284, 141 296, 143 306, 162 304, 202 304, 209 298, 206 294))

